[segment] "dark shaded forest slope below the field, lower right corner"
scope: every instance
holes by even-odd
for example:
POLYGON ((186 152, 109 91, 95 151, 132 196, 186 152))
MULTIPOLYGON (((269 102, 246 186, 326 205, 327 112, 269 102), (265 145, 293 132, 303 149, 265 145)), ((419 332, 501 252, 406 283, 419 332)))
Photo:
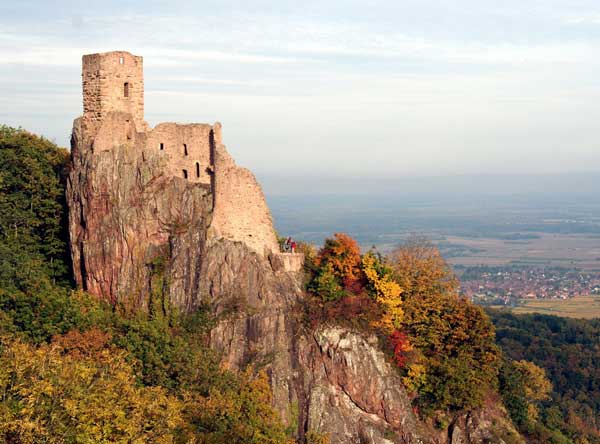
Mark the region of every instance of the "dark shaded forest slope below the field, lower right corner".
POLYGON ((514 374, 503 368, 502 396, 515 422, 529 429, 533 442, 600 443, 600 320, 495 310, 489 314, 506 357, 543 368, 553 387, 550 400, 536 403, 539 417, 532 426, 514 374))

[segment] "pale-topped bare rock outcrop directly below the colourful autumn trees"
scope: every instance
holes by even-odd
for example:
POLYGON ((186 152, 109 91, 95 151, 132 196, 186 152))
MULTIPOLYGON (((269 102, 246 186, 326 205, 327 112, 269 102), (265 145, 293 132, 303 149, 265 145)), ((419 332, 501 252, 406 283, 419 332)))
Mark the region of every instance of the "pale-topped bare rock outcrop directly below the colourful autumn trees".
POLYGON ((321 328, 299 348, 307 430, 328 431, 332 444, 429 442, 377 338, 321 328))

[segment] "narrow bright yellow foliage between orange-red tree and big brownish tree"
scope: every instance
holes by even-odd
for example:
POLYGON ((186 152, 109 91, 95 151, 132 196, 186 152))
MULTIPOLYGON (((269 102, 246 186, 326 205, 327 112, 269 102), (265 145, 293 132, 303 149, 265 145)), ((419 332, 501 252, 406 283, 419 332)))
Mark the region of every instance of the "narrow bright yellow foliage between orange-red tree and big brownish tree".
POLYGON ((381 273, 376 268, 377 258, 372 253, 367 253, 362 258, 362 267, 369 283, 375 289, 375 297, 384 309, 382 319, 377 322, 377 326, 386 333, 391 334, 394 330, 400 329, 403 311, 402 299, 400 294, 402 289, 395 282, 389 273, 381 273))

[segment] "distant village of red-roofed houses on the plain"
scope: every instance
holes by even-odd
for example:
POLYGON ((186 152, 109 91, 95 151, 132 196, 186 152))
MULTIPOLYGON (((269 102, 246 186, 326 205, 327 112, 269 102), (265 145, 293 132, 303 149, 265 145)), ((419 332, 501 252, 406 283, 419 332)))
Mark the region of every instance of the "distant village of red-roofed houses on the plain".
POLYGON ((516 305, 520 299, 600 295, 600 273, 567 268, 458 267, 461 292, 483 305, 516 305))

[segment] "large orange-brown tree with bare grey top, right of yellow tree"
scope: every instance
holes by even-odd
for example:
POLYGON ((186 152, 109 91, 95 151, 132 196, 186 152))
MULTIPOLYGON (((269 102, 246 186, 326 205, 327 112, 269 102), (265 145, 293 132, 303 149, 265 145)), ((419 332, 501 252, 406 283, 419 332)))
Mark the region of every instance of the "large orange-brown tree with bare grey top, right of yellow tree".
POLYGON ((404 381, 424 413, 482 405, 495 388, 500 352, 480 307, 457 295, 457 280, 439 250, 413 238, 390 257, 402 288, 403 320, 417 359, 404 381))

